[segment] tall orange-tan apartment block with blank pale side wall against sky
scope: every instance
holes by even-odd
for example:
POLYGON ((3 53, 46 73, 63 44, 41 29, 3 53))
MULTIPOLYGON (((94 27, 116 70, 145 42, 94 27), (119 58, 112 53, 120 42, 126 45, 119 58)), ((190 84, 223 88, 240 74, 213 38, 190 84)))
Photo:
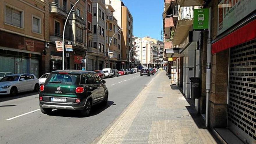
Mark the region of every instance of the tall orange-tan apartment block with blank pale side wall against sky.
POLYGON ((113 12, 113 16, 118 21, 118 26, 122 28, 121 33, 121 57, 122 57, 122 65, 124 68, 128 68, 129 60, 133 59, 134 52, 131 53, 129 58, 129 52, 132 45, 132 30, 133 30, 133 18, 132 15, 125 6, 125 4, 120 0, 112 0, 111 6, 115 9, 113 12))

